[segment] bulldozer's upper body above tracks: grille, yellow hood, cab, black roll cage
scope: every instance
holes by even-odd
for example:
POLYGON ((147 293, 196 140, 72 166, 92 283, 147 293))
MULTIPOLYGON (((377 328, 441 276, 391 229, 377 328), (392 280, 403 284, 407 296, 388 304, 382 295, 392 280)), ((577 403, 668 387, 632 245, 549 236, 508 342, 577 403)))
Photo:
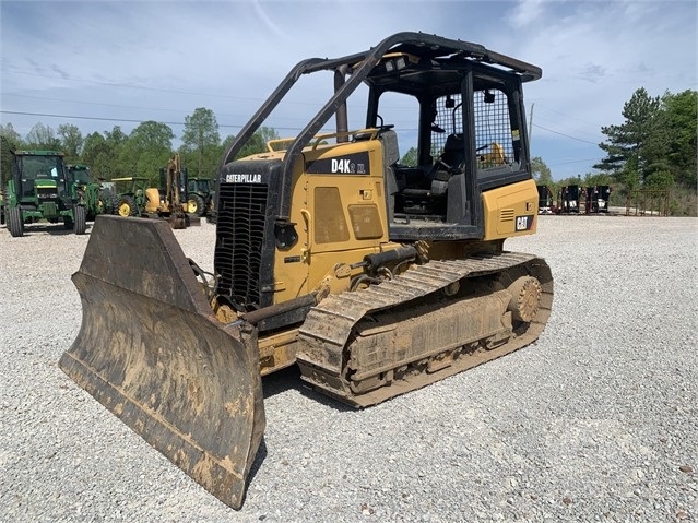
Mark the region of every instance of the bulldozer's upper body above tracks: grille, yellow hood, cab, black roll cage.
POLYGON ((280 300, 282 292, 291 295, 277 282, 292 281, 285 275, 297 263, 309 266, 312 257, 317 268, 320 260, 343 260, 348 249, 372 252, 388 242, 524 234, 534 211, 519 200, 528 193, 514 197, 527 205, 516 215, 510 194, 525 191, 498 188, 531 178, 521 93, 523 82, 541 74, 481 45, 423 33, 399 33, 355 55, 300 61, 222 158, 214 259, 220 294, 237 310, 252 310, 280 300), (304 76, 324 82, 294 98, 292 87, 304 76), (328 76, 332 94, 317 97, 328 76), (307 104, 309 93, 320 107, 307 124, 250 154, 272 114, 287 118, 277 110, 282 100, 307 104), (358 117, 351 128, 350 97, 358 117), (335 132, 327 132, 331 119, 335 132))

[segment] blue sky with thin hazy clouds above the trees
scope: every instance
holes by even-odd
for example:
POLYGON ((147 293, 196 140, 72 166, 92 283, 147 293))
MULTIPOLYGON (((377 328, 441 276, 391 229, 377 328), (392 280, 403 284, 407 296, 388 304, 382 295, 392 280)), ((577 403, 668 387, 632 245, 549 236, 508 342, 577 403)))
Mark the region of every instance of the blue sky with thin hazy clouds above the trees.
MULTIPOLYGON (((541 67, 524 84, 531 155, 556 180, 583 177, 638 88, 698 90, 697 23, 695 1, 0 0, 0 121, 25 136, 38 122, 86 135, 155 120, 179 139, 205 107, 224 138, 298 61, 421 31, 541 67)), ((294 135, 321 96, 301 92, 269 124, 294 135)))

